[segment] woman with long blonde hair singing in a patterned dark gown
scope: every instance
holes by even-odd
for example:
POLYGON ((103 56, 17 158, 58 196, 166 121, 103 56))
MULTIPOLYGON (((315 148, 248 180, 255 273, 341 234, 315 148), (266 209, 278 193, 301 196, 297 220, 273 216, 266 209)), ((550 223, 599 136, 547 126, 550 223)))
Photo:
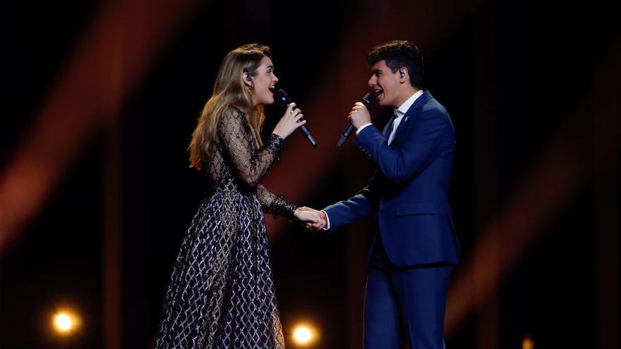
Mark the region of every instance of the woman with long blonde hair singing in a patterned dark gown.
POLYGON ((306 123, 291 104, 261 142, 273 71, 270 48, 259 44, 234 49, 219 68, 189 148, 210 195, 181 243, 156 348, 284 348, 263 212, 315 219, 259 184, 284 139, 306 123))

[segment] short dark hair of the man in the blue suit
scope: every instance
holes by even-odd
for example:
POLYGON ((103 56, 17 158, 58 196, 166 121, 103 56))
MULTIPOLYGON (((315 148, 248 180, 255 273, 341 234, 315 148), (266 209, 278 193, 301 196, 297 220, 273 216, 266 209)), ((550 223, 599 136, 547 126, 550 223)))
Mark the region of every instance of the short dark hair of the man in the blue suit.
POLYGON ((382 59, 386 61, 392 73, 399 68, 406 68, 410 75, 411 85, 421 90, 424 73, 423 56, 415 44, 407 40, 393 40, 374 47, 373 51, 366 55, 369 66, 373 66, 382 59))

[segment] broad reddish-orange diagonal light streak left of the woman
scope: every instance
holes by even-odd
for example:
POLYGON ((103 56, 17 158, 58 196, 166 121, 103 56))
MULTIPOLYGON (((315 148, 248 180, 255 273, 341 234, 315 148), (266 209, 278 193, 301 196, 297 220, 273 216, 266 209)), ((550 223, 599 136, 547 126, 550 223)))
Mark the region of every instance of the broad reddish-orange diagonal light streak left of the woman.
POLYGON ((30 135, 0 173, 0 250, 37 212, 80 146, 116 121, 123 99, 167 39, 205 2, 104 1, 30 135))

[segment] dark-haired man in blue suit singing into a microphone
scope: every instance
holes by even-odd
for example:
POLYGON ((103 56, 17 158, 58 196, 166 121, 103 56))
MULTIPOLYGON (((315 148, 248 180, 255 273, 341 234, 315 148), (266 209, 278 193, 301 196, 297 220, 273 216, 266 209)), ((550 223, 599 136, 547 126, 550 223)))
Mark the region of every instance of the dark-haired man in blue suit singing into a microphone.
POLYGON ((383 132, 356 103, 349 120, 356 145, 378 170, 358 194, 321 212, 315 230, 378 217, 370 249, 364 305, 364 348, 442 348, 447 283, 459 260, 448 202, 455 137, 445 108, 421 90, 423 58, 416 45, 392 41, 366 59, 378 104, 394 107, 383 132))

